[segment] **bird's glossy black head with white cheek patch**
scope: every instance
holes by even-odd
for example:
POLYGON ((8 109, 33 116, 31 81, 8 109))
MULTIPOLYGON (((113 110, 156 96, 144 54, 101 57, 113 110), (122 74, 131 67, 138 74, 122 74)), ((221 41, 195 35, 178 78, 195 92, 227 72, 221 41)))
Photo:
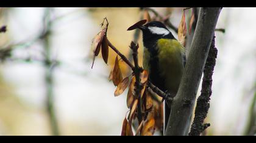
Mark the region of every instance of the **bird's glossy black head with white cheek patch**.
POLYGON ((165 24, 159 21, 148 22, 148 24, 141 25, 138 28, 140 28, 143 33, 144 47, 151 47, 158 39, 175 39, 168 28, 166 28, 165 24))

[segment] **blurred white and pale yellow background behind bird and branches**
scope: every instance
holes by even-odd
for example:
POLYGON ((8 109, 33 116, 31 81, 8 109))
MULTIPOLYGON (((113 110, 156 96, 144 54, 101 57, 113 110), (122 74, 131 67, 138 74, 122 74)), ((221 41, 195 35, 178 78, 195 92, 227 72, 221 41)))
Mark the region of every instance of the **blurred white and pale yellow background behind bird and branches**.
MULTIPOLYGON (((179 26, 183 8, 152 8, 179 26)), ((256 8, 222 8, 205 135, 256 133, 256 8)), ((114 96, 108 65, 91 69, 92 39, 107 17, 108 39, 129 57, 141 8, 0 8, 0 135, 121 135, 127 91, 114 96), (55 130, 58 128, 58 130, 55 130)), ((149 12, 150 16, 154 13, 149 12)), ((187 23, 191 10, 187 10, 187 23)), ((177 38, 177 33, 171 30, 177 38)), ((139 59, 142 60, 141 35, 139 59)), ((126 64, 123 73, 129 75, 126 64)), ((199 87, 200 93, 201 87, 199 87)))

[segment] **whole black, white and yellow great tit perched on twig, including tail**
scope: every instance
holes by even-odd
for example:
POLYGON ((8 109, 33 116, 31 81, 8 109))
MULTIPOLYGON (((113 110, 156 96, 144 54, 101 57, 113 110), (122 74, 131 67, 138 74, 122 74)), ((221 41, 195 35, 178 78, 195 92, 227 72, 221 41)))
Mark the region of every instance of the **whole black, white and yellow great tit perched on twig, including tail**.
MULTIPOLYGON (((185 67, 185 48, 162 22, 152 21, 138 28, 143 33, 143 68, 149 72, 149 81, 175 96, 185 67)), ((165 102, 164 127, 170 111, 165 102)))

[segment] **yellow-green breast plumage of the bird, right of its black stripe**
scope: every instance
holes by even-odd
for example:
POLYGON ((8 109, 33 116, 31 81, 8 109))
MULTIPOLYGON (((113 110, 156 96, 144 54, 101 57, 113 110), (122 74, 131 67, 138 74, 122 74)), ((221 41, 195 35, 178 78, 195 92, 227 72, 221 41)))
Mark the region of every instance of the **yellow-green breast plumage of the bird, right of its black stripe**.
POLYGON ((157 41, 160 76, 165 77, 168 91, 177 92, 183 73, 185 48, 175 39, 157 41))

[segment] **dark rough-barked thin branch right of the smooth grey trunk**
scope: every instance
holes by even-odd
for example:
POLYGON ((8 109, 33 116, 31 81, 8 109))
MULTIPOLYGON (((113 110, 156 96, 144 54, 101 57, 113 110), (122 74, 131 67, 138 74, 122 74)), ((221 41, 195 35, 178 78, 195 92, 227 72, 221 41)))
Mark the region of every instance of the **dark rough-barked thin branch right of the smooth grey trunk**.
POLYGON ((201 95, 197 99, 196 111, 194 113, 194 121, 191 125, 190 136, 199 136, 207 127, 204 125, 204 119, 210 108, 210 96, 212 95, 212 76, 216 64, 218 50, 215 47, 215 36, 213 36, 212 44, 208 53, 208 58, 204 67, 204 78, 202 81, 201 95))

